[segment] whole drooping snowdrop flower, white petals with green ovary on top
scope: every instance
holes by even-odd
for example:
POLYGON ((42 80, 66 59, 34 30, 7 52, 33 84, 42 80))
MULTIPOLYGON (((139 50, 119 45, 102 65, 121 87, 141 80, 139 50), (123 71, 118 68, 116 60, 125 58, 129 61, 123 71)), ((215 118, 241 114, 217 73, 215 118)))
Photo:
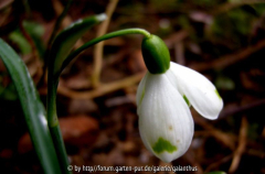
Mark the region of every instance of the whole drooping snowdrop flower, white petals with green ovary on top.
POLYGON ((216 119, 223 101, 204 76, 170 62, 169 51, 156 35, 142 41, 148 68, 137 89, 140 137, 146 148, 165 162, 183 155, 191 144, 192 106, 206 119, 216 119))

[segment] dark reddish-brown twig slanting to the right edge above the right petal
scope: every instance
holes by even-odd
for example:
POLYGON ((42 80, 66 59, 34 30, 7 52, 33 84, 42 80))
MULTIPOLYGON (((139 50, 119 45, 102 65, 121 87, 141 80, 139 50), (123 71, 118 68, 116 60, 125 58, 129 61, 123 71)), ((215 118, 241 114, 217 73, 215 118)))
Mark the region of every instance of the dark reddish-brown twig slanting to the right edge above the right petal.
POLYGON ((251 54, 262 50, 265 47, 265 40, 259 41, 255 45, 251 45, 246 48, 243 48, 241 52, 235 54, 225 55, 215 61, 208 63, 197 63, 190 66, 190 68, 195 69, 198 72, 204 72, 209 69, 222 69, 227 66, 231 66, 240 61, 246 59, 251 54))

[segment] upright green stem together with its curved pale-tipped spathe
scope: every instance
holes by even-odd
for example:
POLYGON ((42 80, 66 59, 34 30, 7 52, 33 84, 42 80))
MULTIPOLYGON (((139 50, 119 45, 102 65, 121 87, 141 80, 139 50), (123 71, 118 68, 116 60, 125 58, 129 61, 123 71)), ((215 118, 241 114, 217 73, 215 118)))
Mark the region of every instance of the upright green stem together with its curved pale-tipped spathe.
POLYGON ((78 20, 63 30, 54 40, 49 56, 47 72, 47 123, 52 134, 53 143, 59 156, 61 170, 68 174, 68 157, 64 146, 64 141, 60 130, 56 111, 56 91, 60 77, 60 69, 65 57, 71 52, 75 42, 93 25, 105 20, 105 14, 94 15, 87 19, 78 20))

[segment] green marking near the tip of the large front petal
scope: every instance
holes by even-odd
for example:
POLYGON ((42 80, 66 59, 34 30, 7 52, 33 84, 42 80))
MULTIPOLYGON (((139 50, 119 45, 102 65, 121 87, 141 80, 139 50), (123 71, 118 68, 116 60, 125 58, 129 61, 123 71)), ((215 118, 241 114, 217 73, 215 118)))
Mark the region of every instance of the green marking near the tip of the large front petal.
POLYGON ((172 145, 168 140, 165 140, 163 138, 159 138, 156 144, 152 146, 152 150, 159 154, 165 151, 169 153, 173 153, 178 149, 177 146, 172 145))

